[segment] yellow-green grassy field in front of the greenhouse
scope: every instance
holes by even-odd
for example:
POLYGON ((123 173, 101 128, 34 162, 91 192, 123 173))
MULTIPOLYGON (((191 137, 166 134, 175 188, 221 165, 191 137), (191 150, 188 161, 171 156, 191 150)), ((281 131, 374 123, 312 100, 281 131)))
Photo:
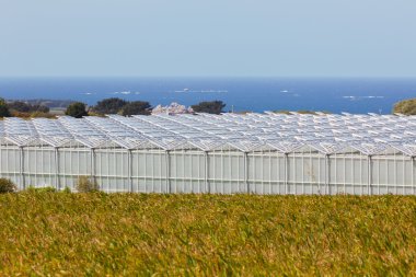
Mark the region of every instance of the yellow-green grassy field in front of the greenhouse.
POLYGON ((0 275, 416 275, 416 198, 0 196, 0 275))

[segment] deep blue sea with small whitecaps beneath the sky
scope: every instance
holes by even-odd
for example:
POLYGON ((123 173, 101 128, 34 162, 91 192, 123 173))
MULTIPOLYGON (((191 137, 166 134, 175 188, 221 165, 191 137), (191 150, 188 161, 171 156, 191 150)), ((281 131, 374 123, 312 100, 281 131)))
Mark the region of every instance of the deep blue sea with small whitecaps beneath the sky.
POLYGON ((416 78, 0 78, 0 96, 74 100, 90 105, 116 96, 149 101, 153 106, 221 100, 227 111, 389 114, 397 101, 416 97, 416 78))

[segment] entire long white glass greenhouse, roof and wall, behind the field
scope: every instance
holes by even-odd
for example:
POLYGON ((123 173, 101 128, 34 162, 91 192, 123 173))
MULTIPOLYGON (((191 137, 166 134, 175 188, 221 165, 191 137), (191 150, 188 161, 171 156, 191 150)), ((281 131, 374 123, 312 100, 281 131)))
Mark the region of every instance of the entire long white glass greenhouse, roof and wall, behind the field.
POLYGON ((20 189, 414 195, 416 116, 183 114, 0 120, 20 189))

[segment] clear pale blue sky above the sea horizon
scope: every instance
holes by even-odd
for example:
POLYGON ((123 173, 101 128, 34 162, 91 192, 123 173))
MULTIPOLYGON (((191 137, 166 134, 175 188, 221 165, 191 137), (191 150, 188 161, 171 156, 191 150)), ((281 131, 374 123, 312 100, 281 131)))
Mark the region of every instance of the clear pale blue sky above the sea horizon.
POLYGON ((416 77, 415 0, 0 0, 0 77, 416 77))

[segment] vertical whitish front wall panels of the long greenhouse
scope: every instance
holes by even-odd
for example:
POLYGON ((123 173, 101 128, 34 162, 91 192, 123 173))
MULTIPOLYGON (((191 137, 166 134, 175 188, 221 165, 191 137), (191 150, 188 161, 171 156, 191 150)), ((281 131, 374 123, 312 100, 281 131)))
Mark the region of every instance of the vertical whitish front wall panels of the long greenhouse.
POLYGON ((74 189, 93 175, 104 192, 255 194, 415 194, 413 159, 392 149, 371 161, 357 151, 328 157, 310 148, 285 158, 277 151, 245 154, 223 149, 95 149, 0 147, 0 176, 20 189, 74 189), (22 160, 21 160, 22 159, 22 160), (245 165, 245 161, 247 164, 245 165), (131 162, 131 163, 130 163, 131 162), (94 166, 92 166, 94 164, 94 166), (169 165, 169 166, 167 166, 169 165), (245 172, 247 169, 247 172, 245 172), (371 172, 371 175, 369 174, 371 172), (169 175, 169 176, 167 176, 169 175))

